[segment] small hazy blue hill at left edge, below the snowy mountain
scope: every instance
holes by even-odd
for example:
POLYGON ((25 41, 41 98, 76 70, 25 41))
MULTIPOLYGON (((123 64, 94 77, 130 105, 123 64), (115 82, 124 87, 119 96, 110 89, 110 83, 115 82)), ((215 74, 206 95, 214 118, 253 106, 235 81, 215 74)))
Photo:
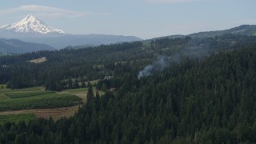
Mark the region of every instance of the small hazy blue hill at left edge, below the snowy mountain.
POLYGON ((54 50, 54 48, 45 44, 22 42, 17 39, 0 38, 1 54, 24 54, 39 50, 54 50))

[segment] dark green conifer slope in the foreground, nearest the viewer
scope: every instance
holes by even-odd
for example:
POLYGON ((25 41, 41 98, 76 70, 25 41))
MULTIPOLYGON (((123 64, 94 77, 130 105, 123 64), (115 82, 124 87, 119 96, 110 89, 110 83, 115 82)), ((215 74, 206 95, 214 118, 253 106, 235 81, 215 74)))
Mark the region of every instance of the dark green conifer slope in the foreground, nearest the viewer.
POLYGON ((141 79, 135 62, 120 63, 104 82, 116 92, 90 95, 73 118, 6 123, 0 142, 255 143, 255 47, 181 58, 141 79))

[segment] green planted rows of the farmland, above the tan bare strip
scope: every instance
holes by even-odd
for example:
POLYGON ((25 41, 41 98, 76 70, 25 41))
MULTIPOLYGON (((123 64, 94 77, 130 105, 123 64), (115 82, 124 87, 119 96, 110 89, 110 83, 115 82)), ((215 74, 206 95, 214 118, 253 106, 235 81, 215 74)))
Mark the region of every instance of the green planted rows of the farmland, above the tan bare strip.
POLYGON ((53 91, 9 91, 1 95, 4 99, 0 99, 0 111, 56 108, 74 106, 82 102, 77 96, 57 94, 53 91))

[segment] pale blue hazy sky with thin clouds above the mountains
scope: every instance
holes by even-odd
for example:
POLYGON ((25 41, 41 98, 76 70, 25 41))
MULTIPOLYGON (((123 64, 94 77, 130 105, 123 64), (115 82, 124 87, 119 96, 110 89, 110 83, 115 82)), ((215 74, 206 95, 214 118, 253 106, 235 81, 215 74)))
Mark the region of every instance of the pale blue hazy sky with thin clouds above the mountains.
POLYGON ((0 26, 27 14, 74 34, 154 38, 256 24, 256 0, 1 0, 0 26))

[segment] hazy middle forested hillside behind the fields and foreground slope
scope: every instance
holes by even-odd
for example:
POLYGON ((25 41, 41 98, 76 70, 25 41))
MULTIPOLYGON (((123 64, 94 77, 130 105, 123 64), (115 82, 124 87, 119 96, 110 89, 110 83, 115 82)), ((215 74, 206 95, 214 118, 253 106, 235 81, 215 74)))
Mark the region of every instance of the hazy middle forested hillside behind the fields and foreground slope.
POLYGON ((10 88, 46 86, 62 90, 69 78, 92 80, 113 75, 138 73, 144 66, 165 56, 174 61, 182 58, 204 58, 224 50, 247 47, 255 37, 227 34, 215 38, 162 38, 151 42, 131 42, 86 49, 41 51, 0 57, 0 84, 10 88), (46 58, 46 62, 28 62, 46 58))

